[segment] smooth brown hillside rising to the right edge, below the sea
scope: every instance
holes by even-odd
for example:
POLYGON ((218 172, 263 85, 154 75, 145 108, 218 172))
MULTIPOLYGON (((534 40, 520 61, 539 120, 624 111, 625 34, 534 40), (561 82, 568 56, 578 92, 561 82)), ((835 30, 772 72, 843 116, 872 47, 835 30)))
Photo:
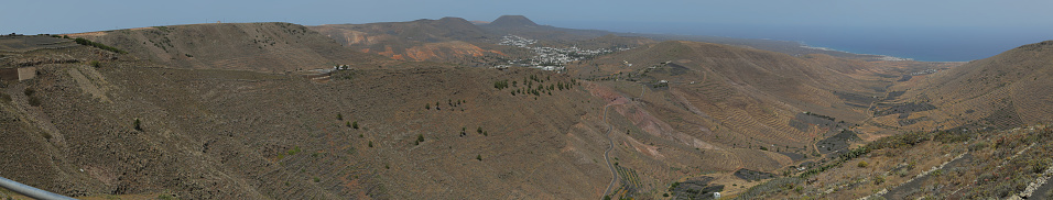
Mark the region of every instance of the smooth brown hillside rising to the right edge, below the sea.
POLYGON ((900 98, 879 107, 875 115, 879 123, 908 130, 1051 123, 1051 57, 1053 42, 1046 41, 969 62, 913 82, 900 98))

